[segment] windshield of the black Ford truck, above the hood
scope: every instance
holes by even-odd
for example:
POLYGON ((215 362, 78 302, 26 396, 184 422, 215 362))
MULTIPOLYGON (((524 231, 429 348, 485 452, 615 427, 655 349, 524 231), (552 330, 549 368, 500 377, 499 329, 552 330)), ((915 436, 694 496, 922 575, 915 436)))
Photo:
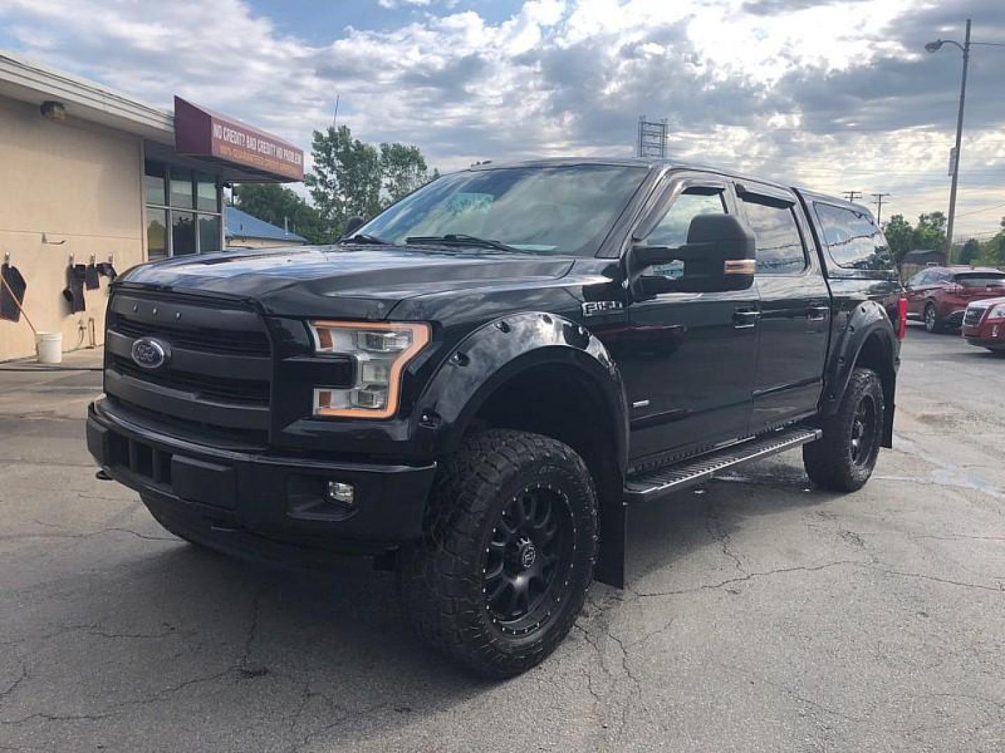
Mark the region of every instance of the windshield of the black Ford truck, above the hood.
POLYGON ((416 236, 468 235, 521 251, 593 256, 645 175, 645 168, 608 165, 455 173, 390 207, 360 233, 401 244, 416 236))

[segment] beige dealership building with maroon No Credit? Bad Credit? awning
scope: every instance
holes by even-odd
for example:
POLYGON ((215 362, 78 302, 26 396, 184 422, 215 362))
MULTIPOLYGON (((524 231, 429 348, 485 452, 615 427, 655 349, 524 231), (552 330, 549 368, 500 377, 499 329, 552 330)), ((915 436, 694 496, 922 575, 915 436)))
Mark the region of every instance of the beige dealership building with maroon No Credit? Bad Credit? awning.
POLYGON ((223 248, 227 184, 303 180, 296 147, 174 104, 0 52, 0 360, 33 354, 34 330, 102 344, 116 272, 223 248))

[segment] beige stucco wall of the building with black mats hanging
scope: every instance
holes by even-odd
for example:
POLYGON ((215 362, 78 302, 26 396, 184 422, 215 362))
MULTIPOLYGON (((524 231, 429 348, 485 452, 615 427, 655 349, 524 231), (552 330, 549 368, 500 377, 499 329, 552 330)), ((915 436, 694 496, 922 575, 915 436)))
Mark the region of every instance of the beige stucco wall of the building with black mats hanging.
MULTIPOLYGON (((61 331, 64 350, 89 342, 91 321, 102 342, 108 299, 102 277, 99 290, 85 292, 86 311, 69 313, 69 256, 77 264, 112 257, 120 273, 143 261, 142 164, 138 137, 46 120, 37 107, 0 98, 0 261, 10 253, 28 283, 25 311, 39 330, 61 331)), ((23 316, 0 319, 0 360, 34 350, 23 316)))

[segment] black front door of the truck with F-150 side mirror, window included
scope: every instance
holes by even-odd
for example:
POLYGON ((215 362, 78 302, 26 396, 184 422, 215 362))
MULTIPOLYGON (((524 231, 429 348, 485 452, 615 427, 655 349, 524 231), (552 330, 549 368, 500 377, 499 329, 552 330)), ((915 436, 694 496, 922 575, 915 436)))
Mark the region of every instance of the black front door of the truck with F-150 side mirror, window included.
MULTIPOLYGON (((707 212, 736 213, 732 186, 701 174, 670 176, 634 241, 681 246, 691 218, 707 212)), ((679 270, 668 265, 649 274, 672 278, 679 270)), ((629 303, 628 327, 613 352, 628 393, 633 463, 699 452, 747 433, 757 309, 754 287, 629 303)))

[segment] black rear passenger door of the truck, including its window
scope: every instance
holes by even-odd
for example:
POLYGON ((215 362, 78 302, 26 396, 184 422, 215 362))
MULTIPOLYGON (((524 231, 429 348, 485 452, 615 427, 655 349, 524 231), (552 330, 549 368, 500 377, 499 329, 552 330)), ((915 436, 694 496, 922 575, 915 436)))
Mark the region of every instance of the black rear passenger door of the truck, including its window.
POLYGON ((737 185, 740 210, 757 239, 760 298, 751 432, 763 432, 816 410, 823 389, 830 293, 809 227, 787 190, 737 185))

